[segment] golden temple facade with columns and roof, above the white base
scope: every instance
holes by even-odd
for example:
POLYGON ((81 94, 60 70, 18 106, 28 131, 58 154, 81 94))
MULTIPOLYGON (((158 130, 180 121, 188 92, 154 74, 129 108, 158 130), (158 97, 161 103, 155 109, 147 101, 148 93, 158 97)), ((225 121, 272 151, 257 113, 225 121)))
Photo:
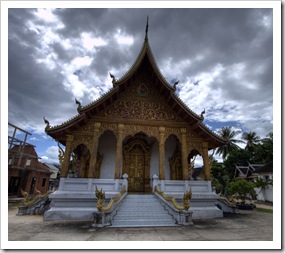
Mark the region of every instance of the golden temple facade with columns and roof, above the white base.
POLYGON ((151 191, 159 180, 190 180, 190 159, 200 154, 204 179, 210 180, 208 151, 225 140, 203 124, 203 114, 189 109, 161 74, 145 40, 130 70, 73 119, 46 133, 65 146, 61 177, 70 164, 80 178, 115 178, 128 174, 128 191, 151 191), (71 161, 72 160, 72 161, 71 161))

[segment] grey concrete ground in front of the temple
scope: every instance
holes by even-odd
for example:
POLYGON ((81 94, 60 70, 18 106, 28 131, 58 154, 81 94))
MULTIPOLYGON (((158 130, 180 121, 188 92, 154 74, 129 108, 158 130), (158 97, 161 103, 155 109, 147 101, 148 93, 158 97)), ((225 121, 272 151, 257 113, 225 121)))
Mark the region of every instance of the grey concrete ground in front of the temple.
MULTIPOLYGON (((240 210, 224 218, 194 220, 190 227, 91 228, 86 221, 43 221, 8 211, 8 241, 272 241, 273 215, 240 210)), ((107 245, 108 246, 108 245, 107 245)))

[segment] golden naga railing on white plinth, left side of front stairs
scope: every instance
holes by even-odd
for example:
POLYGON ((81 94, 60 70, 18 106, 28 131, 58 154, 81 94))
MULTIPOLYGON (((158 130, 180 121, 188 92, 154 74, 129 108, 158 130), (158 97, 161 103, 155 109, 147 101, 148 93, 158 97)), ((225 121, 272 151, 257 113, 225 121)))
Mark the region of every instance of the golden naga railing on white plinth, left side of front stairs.
POLYGON ((120 191, 120 193, 112 198, 110 202, 104 206, 105 203, 105 193, 101 189, 98 190, 96 186, 96 197, 98 199, 97 202, 97 211, 93 213, 94 216, 94 223, 92 224, 92 227, 105 227, 112 225, 112 220, 114 215, 117 213, 117 209, 119 207, 119 203, 124 199, 124 197, 127 195, 126 186, 123 186, 123 189, 120 191))

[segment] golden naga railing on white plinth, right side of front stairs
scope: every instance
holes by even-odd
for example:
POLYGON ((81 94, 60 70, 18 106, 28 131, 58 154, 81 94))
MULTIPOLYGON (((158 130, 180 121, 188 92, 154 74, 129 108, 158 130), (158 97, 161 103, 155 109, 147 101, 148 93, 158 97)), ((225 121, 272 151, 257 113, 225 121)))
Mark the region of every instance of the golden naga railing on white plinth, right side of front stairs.
POLYGON ((154 194, 162 201, 164 207, 176 220, 176 223, 183 226, 192 225, 192 211, 190 208, 190 199, 192 198, 192 190, 184 193, 182 199, 182 205, 179 205, 175 198, 167 196, 164 192, 159 191, 158 187, 155 186, 154 194))

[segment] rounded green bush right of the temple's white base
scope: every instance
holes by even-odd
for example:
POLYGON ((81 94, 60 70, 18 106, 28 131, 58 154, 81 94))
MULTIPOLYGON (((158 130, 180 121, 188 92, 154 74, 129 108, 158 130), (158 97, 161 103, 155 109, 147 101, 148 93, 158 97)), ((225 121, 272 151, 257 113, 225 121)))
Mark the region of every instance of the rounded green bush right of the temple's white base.
POLYGON ((237 194, 241 199, 242 203, 245 203, 245 200, 249 196, 255 196, 254 183, 246 179, 236 179, 230 182, 227 186, 227 192, 229 195, 237 194))

